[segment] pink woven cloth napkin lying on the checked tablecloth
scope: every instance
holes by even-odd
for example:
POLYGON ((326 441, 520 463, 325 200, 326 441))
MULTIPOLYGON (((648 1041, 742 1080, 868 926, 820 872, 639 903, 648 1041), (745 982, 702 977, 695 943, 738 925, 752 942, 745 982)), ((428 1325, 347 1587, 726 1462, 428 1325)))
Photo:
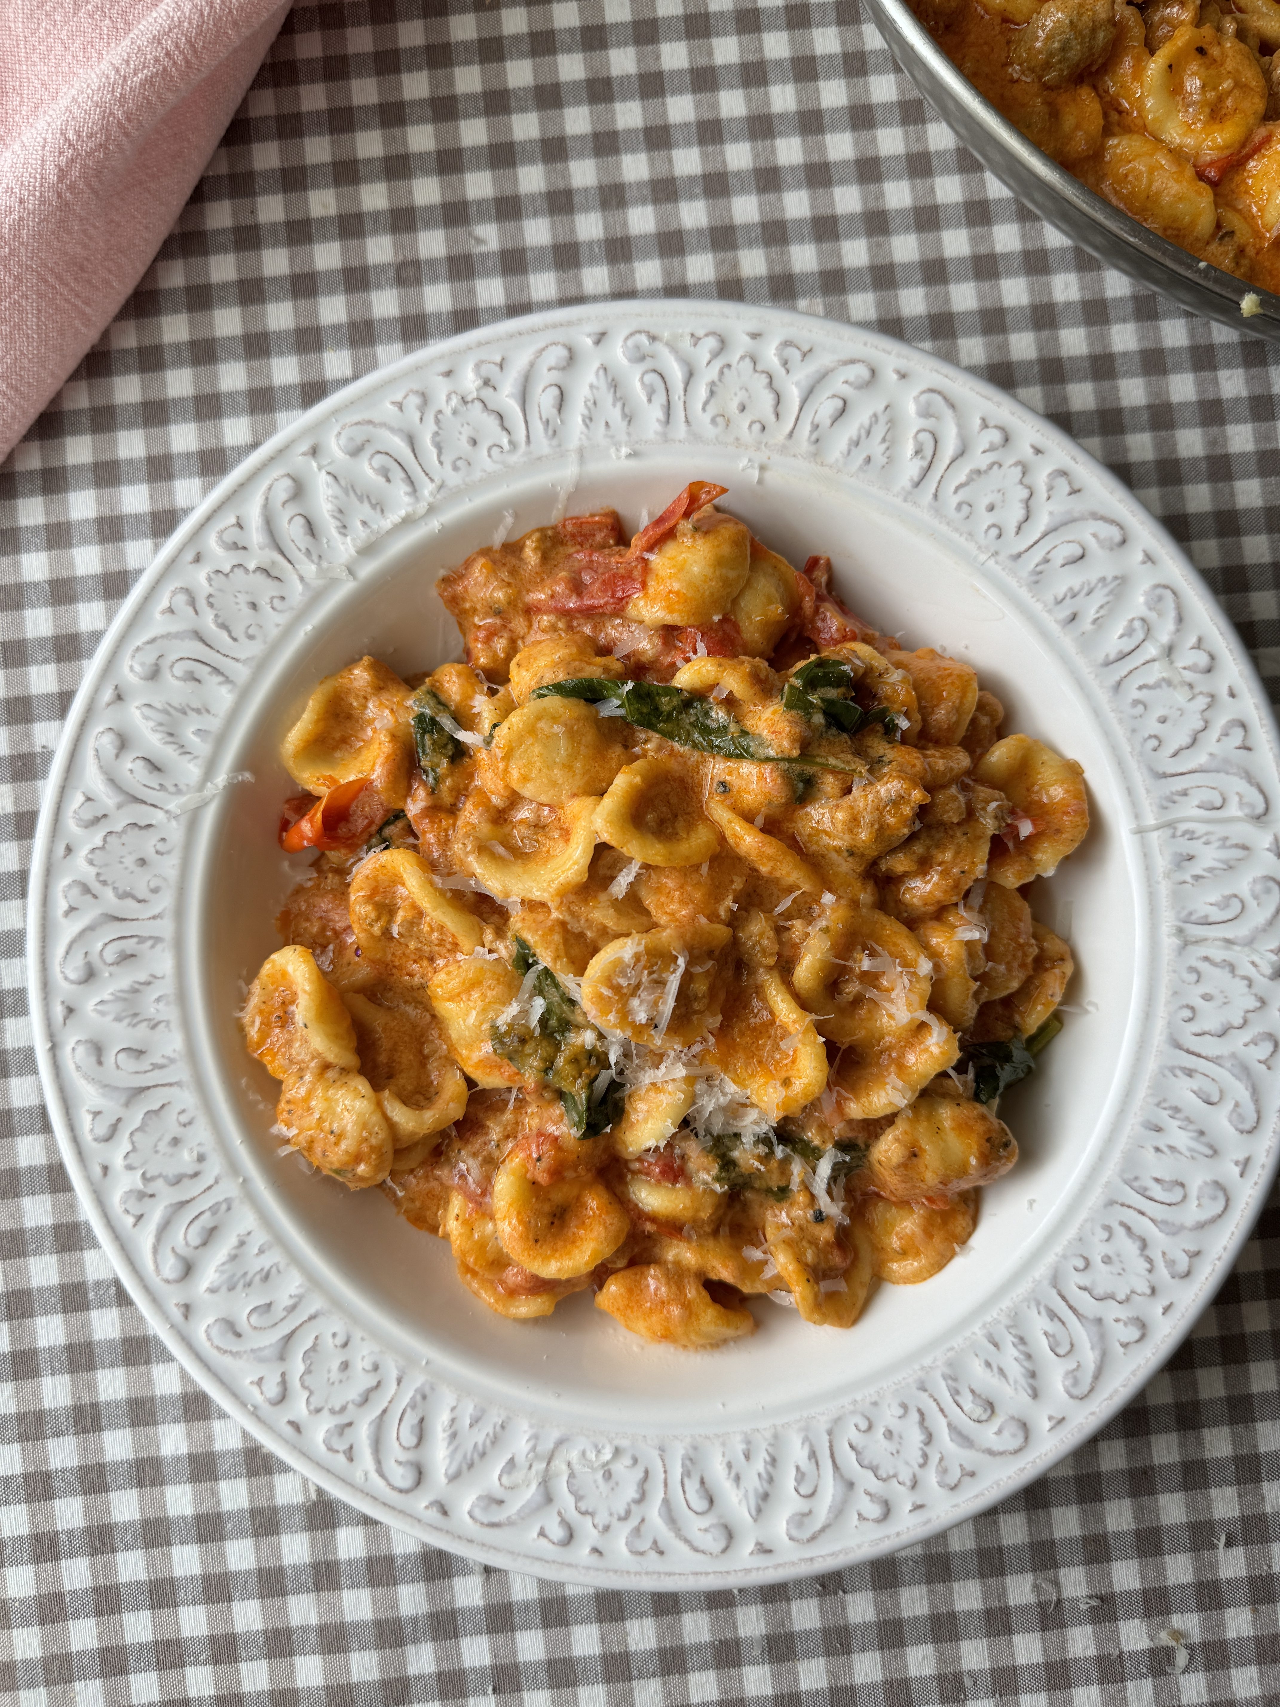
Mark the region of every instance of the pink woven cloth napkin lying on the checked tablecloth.
POLYGON ((172 229, 288 0, 0 0, 0 459, 172 229))

